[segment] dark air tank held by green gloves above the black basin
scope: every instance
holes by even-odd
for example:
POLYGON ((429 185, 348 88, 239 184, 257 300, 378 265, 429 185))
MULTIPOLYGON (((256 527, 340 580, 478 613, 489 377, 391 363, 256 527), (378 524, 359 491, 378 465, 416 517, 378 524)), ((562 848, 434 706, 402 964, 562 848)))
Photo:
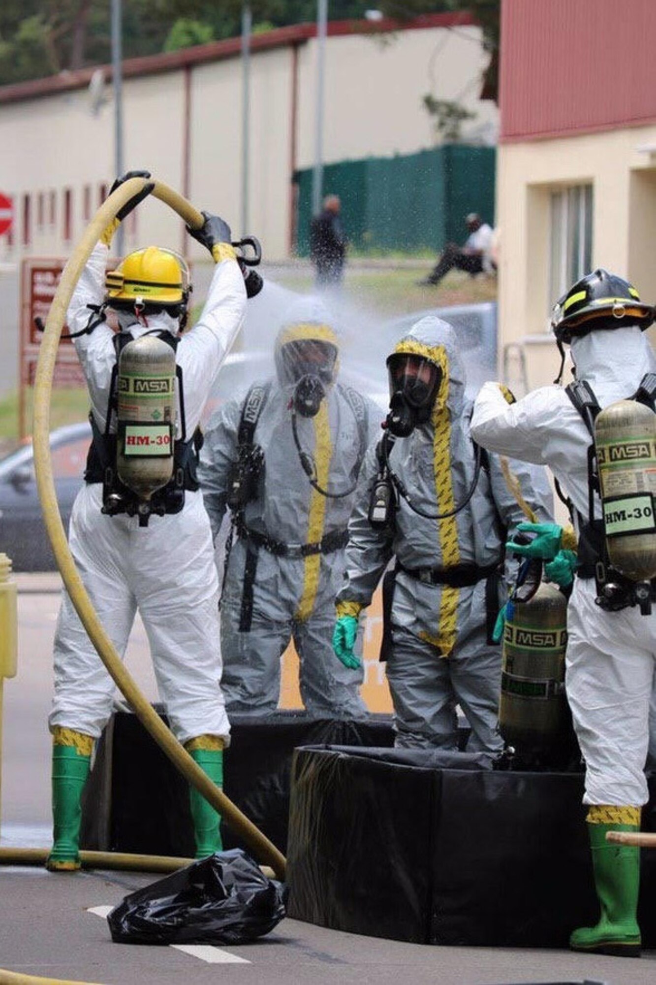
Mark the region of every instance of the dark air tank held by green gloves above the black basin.
POLYGON ((530 602, 514 604, 503 630, 499 731, 518 759, 558 765, 571 748, 564 692, 567 603, 542 583, 530 602))

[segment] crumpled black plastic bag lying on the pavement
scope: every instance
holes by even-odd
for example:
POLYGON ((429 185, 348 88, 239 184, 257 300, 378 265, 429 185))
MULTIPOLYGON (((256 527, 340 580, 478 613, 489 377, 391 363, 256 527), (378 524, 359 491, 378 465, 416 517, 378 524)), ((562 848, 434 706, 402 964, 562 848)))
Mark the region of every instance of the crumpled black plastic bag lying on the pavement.
POLYGON ((240 848, 125 896, 107 915, 117 944, 247 944, 285 916, 286 887, 240 848))

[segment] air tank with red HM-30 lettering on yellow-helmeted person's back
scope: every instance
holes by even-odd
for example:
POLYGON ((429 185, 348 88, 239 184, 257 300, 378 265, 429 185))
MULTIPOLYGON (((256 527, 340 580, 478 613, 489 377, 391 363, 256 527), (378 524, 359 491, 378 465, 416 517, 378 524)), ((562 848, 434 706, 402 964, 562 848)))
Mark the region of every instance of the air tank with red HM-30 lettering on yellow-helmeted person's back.
POLYGON ((173 473, 175 353, 142 335, 118 359, 116 471, 140 499, 162 489, 173 473))

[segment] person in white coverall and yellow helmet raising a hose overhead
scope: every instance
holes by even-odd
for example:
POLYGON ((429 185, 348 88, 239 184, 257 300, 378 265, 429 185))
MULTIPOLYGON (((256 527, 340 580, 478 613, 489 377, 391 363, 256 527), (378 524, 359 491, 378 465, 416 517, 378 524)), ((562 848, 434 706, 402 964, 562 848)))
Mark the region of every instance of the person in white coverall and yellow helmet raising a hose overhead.
MULTIPOLYGON (((134 176, 149 178, 150 173, 128 171, 111 191, 134 176)), ((210 523, 195 477, 194 435, 214 378, 243 322, 246 291, 230 245, 230 228, 208 213, 203 214, 200 230, 189 231, 207 247, 216 267, 203 311, 184 335, 180 333, 190 286, 181 257, 149 246, 105 273, 119 221, 152 188, 146 185, 104 230, 68 309, 68 325, 89 388, 93 427, 69 544, 98 618, 121 657, 139 611, 171 731, 221 786, 230 724, 220 685, 217 572, 210 523), (117 332, 108 326, 105 310, 117 319, 117 332), (144 524, 138 497, 117 476, 121 438, 115 369, 125 346, 154 335, 175 354, 181 382, 176 391, 174 478, 153 493, 144 524), (186 424, 184 433, 181 421, 186 424)), ((46 863, 50 870, 80 868, 81 797, 113 695, 114 683, 64 592, 55 630, 54 697, 48 720, 53 739, 54 844, 46 863)), ((221 850, 220 819, 194 788, 190 797, 196 854, 201 858, 221 850)))

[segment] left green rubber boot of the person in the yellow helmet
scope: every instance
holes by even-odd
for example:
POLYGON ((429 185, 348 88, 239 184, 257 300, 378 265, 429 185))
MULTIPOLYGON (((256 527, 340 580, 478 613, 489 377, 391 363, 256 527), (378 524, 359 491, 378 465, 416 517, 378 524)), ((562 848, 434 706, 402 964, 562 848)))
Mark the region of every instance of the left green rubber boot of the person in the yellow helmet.
POLYGON ((54 843, 45 863, 51 872, 75 872, 80 868, 80 802, 91 768, 93 745, 91 736, 70 729, 55 731, 52 747, 54 843))

